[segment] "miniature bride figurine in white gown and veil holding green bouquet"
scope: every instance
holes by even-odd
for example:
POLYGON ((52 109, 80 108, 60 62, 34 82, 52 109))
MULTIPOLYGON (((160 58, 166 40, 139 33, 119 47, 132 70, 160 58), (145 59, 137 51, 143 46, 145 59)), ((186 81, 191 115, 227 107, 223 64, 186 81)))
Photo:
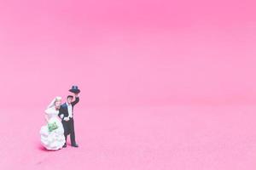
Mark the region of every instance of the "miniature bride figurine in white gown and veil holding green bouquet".
POLYGON ((41 127, 41 144, 47 150, 59 150, 65 144, 64 128, 58 117, 61 97, 55 97, 45 110, 47 124, 41 127))

